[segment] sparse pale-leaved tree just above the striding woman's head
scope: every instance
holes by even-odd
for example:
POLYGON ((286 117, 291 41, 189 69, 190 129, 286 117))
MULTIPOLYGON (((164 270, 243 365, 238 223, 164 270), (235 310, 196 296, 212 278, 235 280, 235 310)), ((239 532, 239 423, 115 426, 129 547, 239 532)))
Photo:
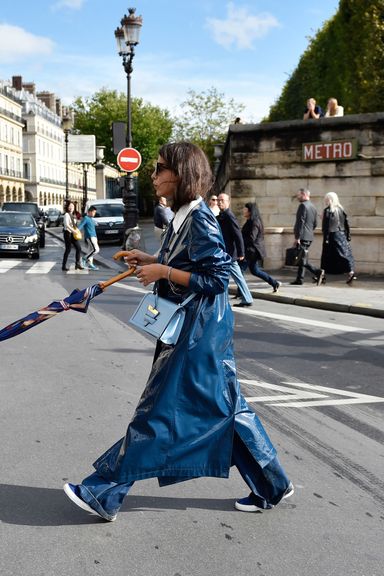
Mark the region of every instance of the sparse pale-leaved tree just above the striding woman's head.
POLYGON ((213 162, 214 146, 224 142, 228 125, 244 110, 233 98, 225 100, 223 93, 214 87, 197 93, 188 90, 188 98, 182 102, 182 114, 175 119, 173 137, 188 140, 200 146, 213 162))

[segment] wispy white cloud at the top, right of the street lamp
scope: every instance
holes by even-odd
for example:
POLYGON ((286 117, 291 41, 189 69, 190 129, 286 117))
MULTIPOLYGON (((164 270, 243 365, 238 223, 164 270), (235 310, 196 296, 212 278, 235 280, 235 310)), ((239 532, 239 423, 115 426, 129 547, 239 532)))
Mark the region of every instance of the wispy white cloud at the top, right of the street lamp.
POLYGON ((271 28, 280 26, 272 14, 251 14, 247 8, 236 7, 233 2, 227 5, 227 18, 207 18, 208 28, 213 32, 215 41, 230 48, 232 44, 240 49, 253 48, 256 38, 268 34, 271 28))

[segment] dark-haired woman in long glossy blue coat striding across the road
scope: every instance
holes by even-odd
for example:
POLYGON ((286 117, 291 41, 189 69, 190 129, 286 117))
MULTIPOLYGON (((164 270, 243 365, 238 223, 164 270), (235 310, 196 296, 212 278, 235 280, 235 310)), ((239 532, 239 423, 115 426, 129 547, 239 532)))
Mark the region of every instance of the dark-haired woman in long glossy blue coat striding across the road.
POLYGON ((126 252, 141 284, 184 302, 175 345, 157 341, 152 370, 126 435, 93 464, 81 484, 65 484, 80 508, 116 519, 136 480, 160 486, 201 476, 226 478, 237 466, 251 494, 236 508, 272 508, 293 493, 274 446, 240 393, 233 356, 233 315, 227 287, 231 258, 204 197, 212 185, 208 160, 187 142, 166 144, 152 175, 156 195, 175 217, 158 256, 126 252))

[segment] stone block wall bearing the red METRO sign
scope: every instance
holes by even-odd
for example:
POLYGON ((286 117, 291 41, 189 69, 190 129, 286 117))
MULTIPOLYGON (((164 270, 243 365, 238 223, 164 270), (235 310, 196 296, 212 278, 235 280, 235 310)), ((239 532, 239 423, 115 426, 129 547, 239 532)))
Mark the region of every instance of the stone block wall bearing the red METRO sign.
MULTIPOLYGON (((296 193, 309 188, 319 214, 324 195, 336 192, 352 228, 356 270, 384 273, 384 113, 342 118, 231 125, 216 177, 216 191, 232 197, 241 221, 245 202, 256 202, 266 227, 265 267, 278 269, 293 242, 296 193), (350 160, 306 162, 302 145, 355 139, 350 160)), ((321 222, 311 259, 321 253, 321 222)))

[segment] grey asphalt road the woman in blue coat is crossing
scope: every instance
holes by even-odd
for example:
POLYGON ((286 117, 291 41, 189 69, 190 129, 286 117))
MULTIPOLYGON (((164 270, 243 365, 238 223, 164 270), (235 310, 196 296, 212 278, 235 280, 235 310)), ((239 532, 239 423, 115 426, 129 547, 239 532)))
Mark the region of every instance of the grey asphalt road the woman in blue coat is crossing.
MULTIPOLYGON (((62 244, 38 263, 0 260, 1 324, 111 271, 63 274, 62 244)), ((239 378, 295 495, 244 514, 229 480, 138 482, 114 524, 74 507, 78 482, 121 437, 153 342, 127 326, 128 279, 91 304, 1 343, 3 576, 381 576, 384 522, 382 320, 258 301, 235 312, 239 378)))

